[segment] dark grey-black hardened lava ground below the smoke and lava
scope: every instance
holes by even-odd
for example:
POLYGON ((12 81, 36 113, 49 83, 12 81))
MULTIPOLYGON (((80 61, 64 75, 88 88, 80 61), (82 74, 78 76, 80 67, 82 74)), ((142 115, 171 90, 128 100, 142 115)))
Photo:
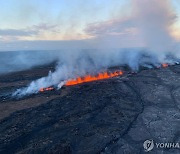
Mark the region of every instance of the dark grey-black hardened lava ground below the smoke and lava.
MULTIPOLYGON (((0 76, 0 153, 131 154, 147 139, 180 142, 180 65, 9 97, 50 69, 0 76)), ((161 152, 180 151, 150 153, 161 152)))

